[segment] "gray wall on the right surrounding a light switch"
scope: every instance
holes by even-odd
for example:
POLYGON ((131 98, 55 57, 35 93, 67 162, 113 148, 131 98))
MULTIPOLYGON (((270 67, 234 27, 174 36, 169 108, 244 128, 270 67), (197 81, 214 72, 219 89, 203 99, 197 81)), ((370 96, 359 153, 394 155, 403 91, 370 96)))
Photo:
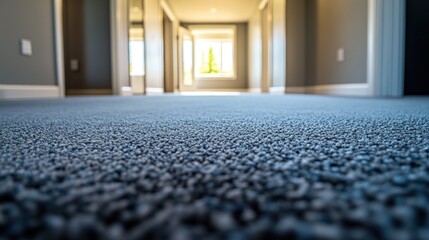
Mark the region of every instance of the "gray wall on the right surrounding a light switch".
POLYGON ((368 2, 307 0, 306 7, 307 85, 366 83, 368 2))

